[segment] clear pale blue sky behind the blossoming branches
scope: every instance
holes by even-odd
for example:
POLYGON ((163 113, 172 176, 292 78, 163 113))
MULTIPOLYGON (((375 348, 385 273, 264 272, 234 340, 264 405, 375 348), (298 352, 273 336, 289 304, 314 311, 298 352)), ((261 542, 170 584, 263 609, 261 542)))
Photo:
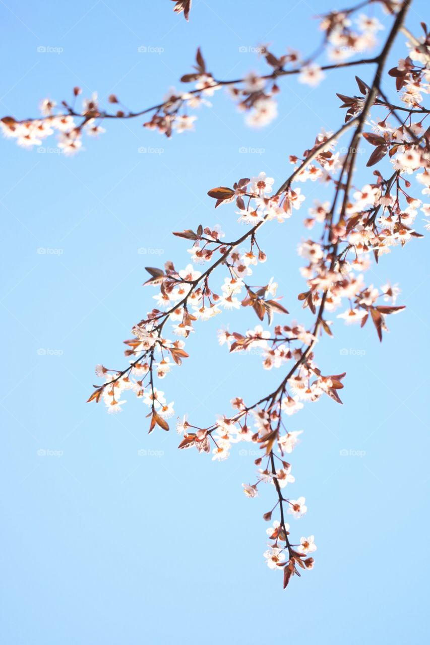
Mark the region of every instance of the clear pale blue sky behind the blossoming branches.
MULTIPOLYGON (((413 3, 415 32, 425 5, 413 3)), ((219 0, 214 10, 195 0, 187 24, 172 7, 167 0, 2 2, 2 114, 37 115, 41 99, 68 99, 75 85, 143 108, 190 71, 198 45, 217 77, 263 70, 253 48, 314 50, 312 15, 332 8, 316 0, 219 0), (41 46, 62 51, 39 53, 41 46)), ((400 38, 392 63, 403 55, 400 38)), ((359 72, 367 81, 372 73, 359 72)), ((294 495, 305 495, 308 506, 292 524, 297 537, 316 536, 318 551, 314 570, 285 592, 262 557, 271 491, 249 500, 241 490, 254 478, 249 455, 233 451, 216 464, 179 453, 174 432, 148 437, 147 410, 131 397, 121 415, 85 403, 94 365, 125 364, 122 341, 152 306, 154 292, 141 287, 144 266, 187 264, 187 243, 170 231, 221 223, 234 239, 241 230, 234 207, 214 212, 207 190, 260 170, 281 184, 288 155, 342 122, 335 92, 356 92, 345 70, 315 90, 294 78, 280 85, 281 115, 265 130, 246 128, 218 92, 213 107, 198 112, 197 132, 171 141, 136 119, 108 123, 73 158, 1 142, 0 631, 7 645, 425 639, 426 239, 394 249, 368 274, 377 286, 400 283, 399 303, 407 305, 389 320, 382 344, 370 327, 337 321, 334 339, 318 346, 326 373, 347 372, 344 405, 327 399, 292 417, 292 429, 305 431, 292 455, 294 495), (158 153, 139 154, 141 146, 158 153)), ((367 181, 360 172, 357 184, 367 181)), ((314 185, 303 192, 306 206, 328 195, 314 185)), ((304 213, 263 228, 269 261, 258 275, 260 284, 274 275, 292 319, 306 323, 295 297, 303 289, 296 246, 306 235, 304 213)), ((229 412, 235 395, 252 401, 269 392, 280 377, 263 372, 256 356, 218 348, 221 324, 237 331, 255 324, 247 312, 228 318, 201 324, 191 358, 163 382, 176 413, 198 424, 229 412)))

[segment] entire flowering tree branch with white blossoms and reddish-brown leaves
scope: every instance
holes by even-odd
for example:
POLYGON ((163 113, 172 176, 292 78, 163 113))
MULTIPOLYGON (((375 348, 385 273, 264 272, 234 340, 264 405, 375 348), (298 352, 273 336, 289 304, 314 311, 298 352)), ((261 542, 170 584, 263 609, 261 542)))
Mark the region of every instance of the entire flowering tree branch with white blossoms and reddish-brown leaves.
MULTIPOLYGON (((369 4, 371 1, 351 10, 325 15, 323 45, 333 49, 341 46, 345 38, 347 42, 352 39, 356 43, 358 36, 351 31, 351 15, 369 4)), ((215 208, 234 204, 238 223, 247 226, 244 233, 233 241, 225 241, 220 226, 213 224, 174 232, 176 237, 190 243, 190 262, 184 263, 185 268, 179 270, 172 261, 165 263, 163 268, 147 268, 149 277, 145 285, 157 290, 153 296, 155 306, 134 325, 132 338, 125 341, 127 366, 118 370, 98 365, 97 376, 104 382, 94 386, 88 399, 103 401, 109 413, 118 413, 126 402, 123 394, 134 393, 147 406, 149 432, 156 427, 168 431, 174 402, 168 402, 159 389, 159 380, 189 357, 186 341, 190 333, 194 333, 196 323, 220 315, 223 310, 251 307, 258 317, 257 326, 245 333, 221 330, 220 344, 225 344, 230 352, 258 350, 265 370, 285 370, 285 373, 278 386, 270 393, 263 393, 258 401, 245 401, 240 393, 234 393, 233 413, 220 415, 208 426, 197 426, 187 417, 178 420, 176 427, 181 434, 178 447, 194 447, 200 453, 211 453, 215 461, 223 461, 229 457, 234 444, 249 442, 259 446, 261 456, 255 460, 256 479, 242 486, 249 498, 257 497, 264 484, 271 484, 276 491, 274 506, 263 514, 268 522, 272 521, 274 513, 278 517, 267 529, 269 544, 264 557, 269 568, 283 571, 284 588, 293 575, 300 575, 300 569, 313 567, 311 554, 316 551, 313 535, 294 542, 287 523, 289 515, 297 519, 307 512, 305 497, 292 499, 284 491, 295 481, 288 455, 300 443, 302 434, 302 431, 294 430, 290 417, 305 403, 316 402, 323 395, 342 403, 340 391, 345 372, 331 373, 331 370, 319 368, 316 347, 324 334, 333 335, 333 321, 329 317, 334 312, 340 312, 336 317, 347 324, 359 323, 361 327, 373 324, 382 341, 387 317, 404 310, 404 306, 396 304, 400 290, 389 283, 380 288, 368 284, 364 273, 371 266, 372 257, 378 262, 391 248, 402 247, 422 237, 414 228, 418 209, 425 216, 430 215, 430 204, 423 203, 413 194, 411 181, 415 175, 423 186, 422 194, 430 195, 430 128, 425 125, 430 110, 423 105, 423 95, 429 93, 430 35, 424 23, 424 35, 420 39, 407 32, 408 53, 387 72, 389 80, 395 83, 401 104, 394 104, 382 90, 387 58, 396 36, 405 30, 405 16, 411 4, 412 0, 382 2, 393 14, 393 24, 380 54, 366 61, 376 65, 373 78, 365 83, 356 77, 358 95, 338 94, 341 108, 346 109, 345 123, 336 132, 318 133, 302 156, 291 154, 289 159, 293 168, 282 186, 274 191, 274 180, 261 172, 254 177, 238 179, 231 187, 217 186, 209 190, 215 208), (351 139, 343 154, 339 141, 350 130, 351 139), (366 166, 378 165, 379 169, 372 171, 367 184, 358 187, 353 175, 362 139, 369 144, 366 166), (333 194, 330 200, 316 201, 309 207, 305 228, 311 232, 319 226, 320 232, 309 233, 311 237, 298 246, 306 283, 298 300, 312 314, 311 324, 305 325, 289 319, 285 322, 289 312, 282 298, 276 295, 278 284, 274 279, 255 284, 253 275, 256 268, 258 270, 260 264, 267 261, 261 248, 261 227, 274 220, 284 223, 302 209, 305 195, 297 184, 316 181, 331 188, 333 194), (201 270, 196 265, 200 265, 201 270), (220 270, 223 271, 221 279, 216 278, 220 270), (169 338, 170 335, 176 339, 169 338)), ((364 34, 377 30, 376 19, 362 17, 360 21, 367 25, 367 32, 363 28, 364 34)), ((313 82, 309 79, 314 78, 315 69, 310 71, 314 63, 308 61, 301 67, 286 70, 287 64, 298 62, 297 57, 293 59, 292 54, 288 54, 275 59, 266 49, 263 55, 274 68, 270 75, 253 75, 240 81, 215 81, 208 74, 198 50, 196 72, 182 79, 184 82, 196 81, 196 90, 187 96, 172 94, 165 103, 147 110, 154 114, 146 125, 170 135, 174 123, 181 123, 178 119, 191 118, 180 117, 179 110, 184 104, 196 99, 202 101, 205 94, 213 93, 223 84, 232 86, 232 94, 249 112, 252 124, 252 115, 261 113, 260 102, 265 102, 267 107, 267 102, 272 101, 278 91, 274 90, 278 77, 300 74, 302 77, 307 75, 307 82, 313 82), (239 83, 244 87, 237 88, 239 83)), ((341 64, 351 66, 364 60, 341 64)), ((78 114, 74 107, 65 107, 65 114, 47 114, 41 123, 49 127, 56 119, 80 117, 84 119, 78 126, 82 129, 95 123, 93 119, 130 118, 145 112, 123 112, 121 116, 97 112, 96 115, 94 111, 98 107, 93 103, 86 106, 86 112, 78 114)), ((49 110, 53 109, 50 106, 49 110)), ((6 124, 6 128, 12 129, 17 123, 6 124)), ((430 221, 426 222, 424 228, 428 230, 430 221)))

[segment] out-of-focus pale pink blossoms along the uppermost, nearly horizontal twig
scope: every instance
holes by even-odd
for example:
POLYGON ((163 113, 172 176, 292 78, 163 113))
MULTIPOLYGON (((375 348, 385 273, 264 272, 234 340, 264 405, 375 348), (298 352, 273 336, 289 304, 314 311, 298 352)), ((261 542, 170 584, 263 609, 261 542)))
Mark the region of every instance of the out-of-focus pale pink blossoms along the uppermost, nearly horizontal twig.
MULTIPOLYGON (((394 2, 386 1, 383 4, 388 12, 396 10, 394 2)), ((174 10, 184 12, 188 20, 190 6, 191 0, 179 0, 176 2, 174 10)), ((343 59, 354 54, 362 54, 376 45, 376 33, 382 29, 378 19, 360 14, 354 19, 354 25, 358 31, 354 31, 351 26, 353 25, 352 16, 360 6, 344 12, 331 12, 321 17, 320 28, 324 34, 323 45, 329 45, 327 47, 329 59, 335 61, 336 65, 342 66, 340 61, 343 59)), ((107 112, 105 108, 102 108, 97 94, 93 94, 92 97, 83 99, 81 108, 78 109, 76 99, 81 94, 81 88, 75 87, 70 103, 61 101, 60 106, 57 106, 55 101, 45 99, 41 103, 39 118, 19 121, 12 116, 6 116, 0 120, 0 127, 6 137, 16 139, 19 146, 26 148, 41 146, 46 137, 57 133, 57 146, 66 155, 75 154, 81 148, 83 134, 95 136, 105 132, 101 126, 105 119, 131 119, 151 114, 150 119, 145 121, 143 126, 170 137, 173 132, 180 134, 187 130, 194 130, 197 116, 189 114, 189 110, 199 108, 201 105, 210 106, 207 97, 212 96, 216 90, 220 90, 223 86, 236 101, 238 109, 246 113, 245 121, 248 125, 265 126, 278 115, 276 95, 280 92, 277 83, 279 77, 296 74, 300 83, 316 86, 324 78, 323 70, 336 66, 333 64, 320 66, 314 59, 304 59, 299 52, 293 50, 289 50, 287 54, 276 56, 269 52, 267 46, 263 45, 258 48, 258 51, 269 65, 269 74, 261 75, 250 72, 237 81, 216 80, 207 70, 205 59, 198 48, 194 71, 181 77, 182 83, 194 83, 194 89, 189 92, 178 92, 175 88, 170 88, 163 97, 163 101, 152 108, 132 112, 120 103, 116 95, 111 94, 108 96, 107 102, 114 104, 116 111, 107 112)), ((420 61, 421 59, 422 61, 425 56, 420 48, 413 47, 411 57, 413 60, 420 61)), ((360 64, 364 61, 356 62, 360 64)), ((404 72, 405 77, 414 75, 414 81, 405 83, 404 88, 404 95, 409 96, 410 99, 416 95, 414 84, 418 73, 411 58, 408 57, 404 61, 400 72, 404 72)))

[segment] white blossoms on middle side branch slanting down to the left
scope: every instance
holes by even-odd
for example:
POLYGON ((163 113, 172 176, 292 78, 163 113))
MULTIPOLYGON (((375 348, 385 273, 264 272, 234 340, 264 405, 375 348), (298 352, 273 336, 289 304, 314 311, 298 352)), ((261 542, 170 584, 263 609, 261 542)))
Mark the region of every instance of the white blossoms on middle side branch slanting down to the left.
MULTIPOLYGON (((236 199, 240 208, 238 215, 241 222, 246 221, 243 213, 261 210, 262 215, 251 229, 252 232, 265 219, 275 217, 274 209, 281 209, 280 206, 272 206, 272 201, 283 204, 281 209, 283 217, 291 214, 284 210, 287 204, 287 193, 282 201, 278 197, 269 197, 273 181, 261 172, 252 179, 240 179, 237 184, 234 184, 236 188, 214 189, 210 194, 214 192, 218 194, 220 190, 229 191, 229 195, 232 194, 233 197, 227 198, 223 194, 221 201, 236 199), (244 199, 247 199, 249 210, 245 208, 244 199)), ((299 203, 298 195, 294 199, 296 199, 294 203, 299 203)), ((267 314, 270 321, 276 312, 287 313, 279 299, 275 297, 278 285, 273 279, 259 287, 247 284, 247 278, 252 275, 252 266, 263 263, 266 259, 253 233, 251 236, 249 233, 245 234, 245 238, 250 237, 248 248, 240 248, 238 242, 224 243, 224 233, 218 225, 212 228, 198 226, 196 232, 185 230, 176 232, 174 235, 193 242, 189 249, 193 264, 188 264, 179 271, 170 261, 165 263, 164 269, 147 268, 150 277, 145 284, 158 288, 158 293, 153 296, 156 307, 132 328, 134 338, 125 341, 127 344, 125 355, 130 357, 129 366, 121 371, 97 366, 96 374, 104 378, 105 383, 101 387, 96 386, 96 390, 90 397, 91 401, 103 400, 109 413, 121 412, 125 404, 121 394, 125 390, 132 390, 151 408, 152 417, 156 418, 159 425, 161 424, 158 417, 169 418, 173 413, 173 404, 166 403, 163 392, 159 392, 154 385, 154 378, 163 379, 170 372, 172 365, 175 363, 180 365, 182 359, 188 357, 184 350, 185 342, 182 339, 187 339, 189 334, 194 332, 195 321, 206 321, 221 313, 222 309, 231 310, 241 306, 252 306, 258 311, 260 319, 267 314), (214 257, 218 259, 205 272, 202 273, 194 268, 195 264, 210 263, 214 257), (215 292, 209 286, 209 276, 214 266, 219 263, 227 267, 228 275, 215 292), (180 339, 170 341, 163 336, 163 328, 167 321, 172 324, 172 333, 180 339)), ((169 427, 166 422, 163 422, 161 427, 164 426, 167 426, 166 429, 169 427)))

